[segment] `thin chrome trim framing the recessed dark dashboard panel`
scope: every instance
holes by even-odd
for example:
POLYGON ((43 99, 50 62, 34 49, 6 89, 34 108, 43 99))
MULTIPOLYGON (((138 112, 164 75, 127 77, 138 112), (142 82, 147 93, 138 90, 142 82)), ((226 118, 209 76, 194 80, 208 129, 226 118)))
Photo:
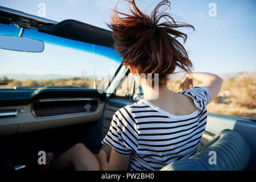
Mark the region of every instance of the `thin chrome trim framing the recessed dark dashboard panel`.
MULTIPOLYGON (((35 102, 55 102, 55 101, 98 101, 98 105, 100 104, 100 100, 98 98, 46 98, 46 99, 37 100, 35 102)), ((48 118, 57 118, 57 117, 67 117, 67 116, 72 116, 72 115, 93 114, 93 113, 96 113, 97 108, 98 108, 97 107, 96 110, 93 111, 92 113, 83 112, 83 113, 60 114, 60 115, 51 115, 51 116, 46 116, 46 117, 38 117, 35 114, 35 111, 33 109, 33 105, 34 105, 35 102, 33 102, 31 104, 30 108, 31 108, 32 115, 36 119, 48 119, 48 118)))

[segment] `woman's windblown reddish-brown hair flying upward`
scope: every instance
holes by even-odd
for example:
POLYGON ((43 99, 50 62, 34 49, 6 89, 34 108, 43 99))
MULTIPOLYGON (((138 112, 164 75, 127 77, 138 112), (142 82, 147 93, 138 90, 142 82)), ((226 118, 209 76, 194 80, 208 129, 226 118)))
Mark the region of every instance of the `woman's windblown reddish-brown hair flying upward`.
POLYGON ((185 43, 187 35, 177 28, 195 28, 186 23, 177 24, 166 13, 166 10, 171 9, 168 0, 158 3, 150 15, 142 13, 134 0, 125 1, 133 6, 134 10, 129 6, 131 15, 117 11, 116 6, 108 24, 113 30, 114 48, 122 56, 122 63, 134 65, 139 74, 159 73, 160 86, 167 84, 168 76, 174 73, 176 67, 190 73, 192 63, 188 53, 176 40, 182 38, 185 43))

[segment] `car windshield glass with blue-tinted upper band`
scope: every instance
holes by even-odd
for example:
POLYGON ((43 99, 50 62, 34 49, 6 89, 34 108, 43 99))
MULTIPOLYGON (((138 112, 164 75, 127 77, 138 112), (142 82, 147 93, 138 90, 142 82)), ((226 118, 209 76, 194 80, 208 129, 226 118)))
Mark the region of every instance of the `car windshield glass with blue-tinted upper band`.
MULTIPOLYGON (((18 36, 20 28, 0 24, 0 35, 18 36)), ((0 88, 36 89, 44 86, 97 88, 121 64, 121 57, 111 48, 78 42, 25 29, 23 37, 44 42, 41 53, 0 49, 0 88)))

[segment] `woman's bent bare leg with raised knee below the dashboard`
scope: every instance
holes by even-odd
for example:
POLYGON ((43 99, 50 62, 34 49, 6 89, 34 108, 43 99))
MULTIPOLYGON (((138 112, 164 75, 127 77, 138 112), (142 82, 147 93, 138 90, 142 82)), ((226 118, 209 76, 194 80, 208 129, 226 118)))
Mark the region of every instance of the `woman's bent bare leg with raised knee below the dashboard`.
POLYGON ((76 171, 98 171, 100 162, 82 143, 77 143, 51 162, 51 169, 65 170, 75 167, 76 171))

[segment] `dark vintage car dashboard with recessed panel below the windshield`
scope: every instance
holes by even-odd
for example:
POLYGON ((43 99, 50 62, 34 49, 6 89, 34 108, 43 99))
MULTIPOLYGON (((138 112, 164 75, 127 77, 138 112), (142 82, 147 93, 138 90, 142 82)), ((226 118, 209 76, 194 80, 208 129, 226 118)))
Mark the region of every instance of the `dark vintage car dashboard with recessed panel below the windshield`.
POLYGON ((105 100, 105 93, 86 88, 2 89, 0 135, 97 121, 105 100))

